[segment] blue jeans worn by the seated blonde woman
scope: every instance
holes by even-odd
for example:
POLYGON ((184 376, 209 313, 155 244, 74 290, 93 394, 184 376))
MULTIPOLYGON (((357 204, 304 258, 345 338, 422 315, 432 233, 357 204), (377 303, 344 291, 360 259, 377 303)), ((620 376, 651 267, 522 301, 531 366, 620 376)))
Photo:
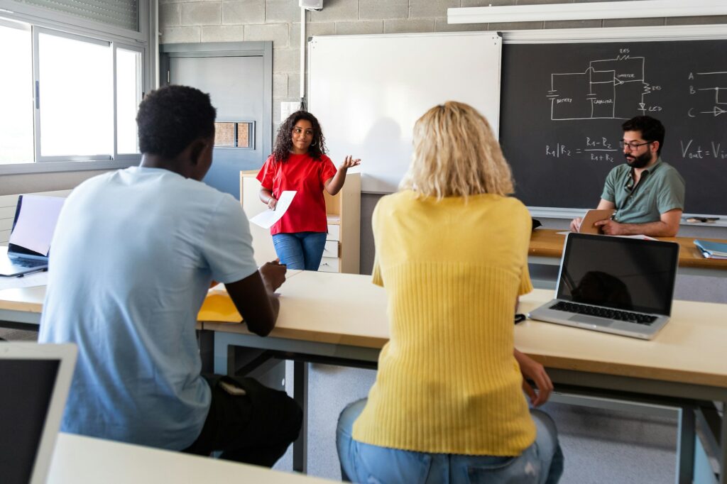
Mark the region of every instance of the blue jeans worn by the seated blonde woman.
POLYGON ((350 403, 338 419, 336 445, 343 480, 366 484, 555 484, 563 473, 558 432, 545 412, 531 410, 537 437, 521 455, 466 456, 401 451, 357 442, 351 437, 351 429, 364 406, 366 399, 350 403))

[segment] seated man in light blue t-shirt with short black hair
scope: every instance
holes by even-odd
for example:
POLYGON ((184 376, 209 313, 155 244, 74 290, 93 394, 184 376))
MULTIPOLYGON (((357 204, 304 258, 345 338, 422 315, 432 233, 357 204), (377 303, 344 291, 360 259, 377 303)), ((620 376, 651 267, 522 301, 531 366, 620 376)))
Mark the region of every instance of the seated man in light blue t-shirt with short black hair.
POLYGON ((39 341, 79 346, 63 431, 272 466, 300 431, 297 403, 252 379, 200 374, 195 323, 211 281, 265 336, 285 280, 284 265, 255 265, 240 203, 201 182, 214 118, 197 89, 145 97, 140 166, 65 201, 39 341))

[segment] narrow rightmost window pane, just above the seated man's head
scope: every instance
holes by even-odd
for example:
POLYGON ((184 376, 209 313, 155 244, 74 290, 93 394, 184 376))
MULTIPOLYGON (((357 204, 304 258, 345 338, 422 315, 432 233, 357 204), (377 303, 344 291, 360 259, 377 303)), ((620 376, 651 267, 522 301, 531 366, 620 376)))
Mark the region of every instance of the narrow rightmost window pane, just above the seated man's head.
POLYGON ((141 52, 116 49, 116 142, 119 153, 139 153, 136 113, 141 101, 141 52))

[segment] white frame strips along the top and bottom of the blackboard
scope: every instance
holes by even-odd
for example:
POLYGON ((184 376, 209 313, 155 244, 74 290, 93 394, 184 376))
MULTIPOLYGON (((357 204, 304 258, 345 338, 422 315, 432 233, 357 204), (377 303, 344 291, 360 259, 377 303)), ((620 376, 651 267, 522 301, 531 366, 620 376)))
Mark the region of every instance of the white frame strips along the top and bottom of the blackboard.
MULTIPOLYGON (((649 41, 689 41, 689 40, 726 40, 727 24, 714 25, 656 25, 651 27, 596 27, 596 28, 556 28, 527 31, 502 31, 502 44, 572 44, 600 42, 649 42, 649 41)), ((600 193, 593 195, 598 202, 600 193)), ((595 208, 595 204, 593 206, 595 208)), ((587 209, 563 209, 547 206, 529 206, 532 217, 553 219, 572 219, 582 217, 587 209)), ((710 226, 727 227, 725 214, 691 214, 682 217, 720 217, 710 226)), ((681 225, 697 225, 681 220, 681 225)), ((705 224, 699 224, 703 226, 705 224)))

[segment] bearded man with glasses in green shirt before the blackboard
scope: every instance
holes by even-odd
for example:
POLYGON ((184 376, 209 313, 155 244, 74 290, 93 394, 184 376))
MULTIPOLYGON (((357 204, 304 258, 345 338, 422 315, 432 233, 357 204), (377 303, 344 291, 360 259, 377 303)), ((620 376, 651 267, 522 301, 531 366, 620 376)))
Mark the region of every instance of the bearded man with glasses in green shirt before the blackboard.
MULTIPOLYGON (((595 222, 607 235, 673 237, 684 209, 684 179, 659 156, 664 126, 650 116, 622 124, 626 164, 608 173, 598 209, 616 209, 612 219, 595 222)), ((578 232, 582 219, 571 221, 578 232)))

